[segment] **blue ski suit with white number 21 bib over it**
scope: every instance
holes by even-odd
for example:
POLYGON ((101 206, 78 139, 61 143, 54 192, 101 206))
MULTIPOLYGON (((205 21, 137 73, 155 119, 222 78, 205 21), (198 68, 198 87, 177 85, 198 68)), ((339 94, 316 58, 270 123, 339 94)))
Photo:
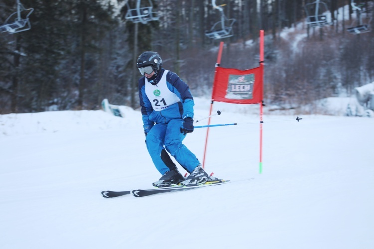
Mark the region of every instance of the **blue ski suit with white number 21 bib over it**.
POLYGON ((200 162, 182 144, 186 135, 180 130, 183 118, 193 118, 194 101, 188 85, 176 73, 165 69, 161 69, 155 80, 143 76, 138 83, 147 150, 157 170, 163 175, 176 167, 166 149, 191 173, 200 162))

